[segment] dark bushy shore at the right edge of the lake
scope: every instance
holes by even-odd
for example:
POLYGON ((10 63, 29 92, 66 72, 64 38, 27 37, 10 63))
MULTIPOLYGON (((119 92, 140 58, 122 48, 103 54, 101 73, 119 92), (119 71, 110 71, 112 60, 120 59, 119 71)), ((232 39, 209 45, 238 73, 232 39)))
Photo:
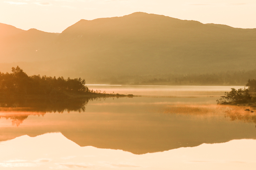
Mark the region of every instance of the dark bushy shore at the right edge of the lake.
POLYGON ((256 108, 256 80, 248 80, 244 89, 231 88, 224 96, 216 100, 217 104, 231 104, 256 108), (246 88, 247 87, 247 88, 246 88))

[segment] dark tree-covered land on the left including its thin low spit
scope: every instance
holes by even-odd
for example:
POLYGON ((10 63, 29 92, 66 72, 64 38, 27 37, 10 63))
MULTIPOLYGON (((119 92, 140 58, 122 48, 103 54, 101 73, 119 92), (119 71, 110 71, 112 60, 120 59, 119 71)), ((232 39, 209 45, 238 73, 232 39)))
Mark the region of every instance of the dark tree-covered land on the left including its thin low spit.
POLYGON ((0 72, 0 95, 2 101, 7 98, 60 100, 83 97, 133 97, 90 90, 81 78, 28 76, 19 66, 12 67, 12 73, 0 72))

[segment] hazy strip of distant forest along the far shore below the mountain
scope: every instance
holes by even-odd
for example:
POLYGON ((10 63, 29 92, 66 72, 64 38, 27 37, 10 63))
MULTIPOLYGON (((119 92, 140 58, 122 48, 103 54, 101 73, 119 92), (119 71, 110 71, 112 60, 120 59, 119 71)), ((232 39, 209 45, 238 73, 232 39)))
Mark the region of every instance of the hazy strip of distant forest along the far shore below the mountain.
POLYGON ((248 79, 256 78, 256 69, 228 71, 212 74, 159 74, 120 76, 99 80, 120 85, 173 85, 173 86, 244 86, 248 79))

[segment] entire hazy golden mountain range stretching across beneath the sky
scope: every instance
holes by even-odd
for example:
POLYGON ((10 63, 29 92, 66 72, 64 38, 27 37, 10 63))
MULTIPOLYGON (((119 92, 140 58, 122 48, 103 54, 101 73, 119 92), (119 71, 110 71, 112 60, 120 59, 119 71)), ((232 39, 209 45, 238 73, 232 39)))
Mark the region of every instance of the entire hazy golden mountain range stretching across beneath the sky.
POLYGON ((81 76, 90 83, 115 76, 251 70, 256 63, 256 29, 143 12, 82 19, 59 35, 35 29, 8 35, 0 39, 0 62, 11 63, 0 64, 3 71, 19 64, 29 74, 81 76))

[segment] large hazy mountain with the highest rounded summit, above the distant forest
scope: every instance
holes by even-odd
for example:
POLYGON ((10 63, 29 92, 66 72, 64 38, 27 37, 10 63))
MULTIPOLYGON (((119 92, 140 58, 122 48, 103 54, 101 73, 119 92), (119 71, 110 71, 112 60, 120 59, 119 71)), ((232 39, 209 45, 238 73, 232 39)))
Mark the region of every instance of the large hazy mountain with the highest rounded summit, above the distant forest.
POLYGON ((97 63, 95 71, 109 74, 254 68, 248 61, 256 61, 256 29, 227 27, 133 13, 81 20, 63 31, 58 40, 67 56, 75 54, 84 63, 97 63))

